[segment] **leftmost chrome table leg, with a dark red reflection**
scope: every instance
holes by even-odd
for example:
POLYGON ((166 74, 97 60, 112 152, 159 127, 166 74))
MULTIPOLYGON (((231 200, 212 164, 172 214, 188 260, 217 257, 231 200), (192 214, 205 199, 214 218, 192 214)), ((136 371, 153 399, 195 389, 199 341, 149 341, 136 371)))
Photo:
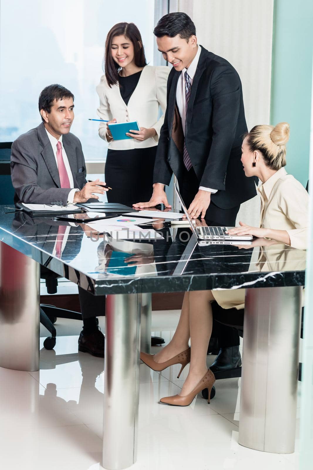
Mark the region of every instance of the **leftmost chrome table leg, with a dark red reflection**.
POLYGON ((0 242, 0 367, 39 369, 39 264, 0 242))

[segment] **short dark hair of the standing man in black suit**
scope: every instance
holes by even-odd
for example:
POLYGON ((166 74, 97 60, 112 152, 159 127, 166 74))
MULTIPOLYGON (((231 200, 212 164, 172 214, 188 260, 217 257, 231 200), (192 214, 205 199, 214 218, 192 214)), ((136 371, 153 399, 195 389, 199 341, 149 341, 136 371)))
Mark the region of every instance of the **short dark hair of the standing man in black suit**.
POLYGON ((190 16, 186 13, 168 13, 168 15, 162 16, 158 21, 158 24, 154 28, 153 34, 157 38, 162 36, 169 36, 174 38, 179 34, 182 39, 188 39, 191 36, 196 35, 196 26, 194 25, 190 16))

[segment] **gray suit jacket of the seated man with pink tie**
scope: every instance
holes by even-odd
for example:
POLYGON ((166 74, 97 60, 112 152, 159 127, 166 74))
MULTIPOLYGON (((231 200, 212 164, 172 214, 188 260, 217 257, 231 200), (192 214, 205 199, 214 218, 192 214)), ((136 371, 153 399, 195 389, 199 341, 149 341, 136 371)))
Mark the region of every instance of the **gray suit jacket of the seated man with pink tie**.
MULTIPOLYGON (((74 134, 62 137, 74 188, 86 183, 82 145, 74 134)), ((66 205, 71 188, 61 188, 53 149, 43 123, 20 135, 12 144, 11 178, 17 197, 25 204, 66 205)))

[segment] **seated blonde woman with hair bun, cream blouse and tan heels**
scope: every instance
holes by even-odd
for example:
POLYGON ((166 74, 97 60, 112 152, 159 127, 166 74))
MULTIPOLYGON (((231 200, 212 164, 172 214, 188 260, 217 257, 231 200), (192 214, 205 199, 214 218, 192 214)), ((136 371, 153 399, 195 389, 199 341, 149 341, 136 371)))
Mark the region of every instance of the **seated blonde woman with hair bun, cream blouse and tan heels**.
MULTIPOLYGON (((260 227, 240 222, 229 234, 254 235, 276 240, 305 250, 307 246, 308 194, 305 188, 283 168, 286 165, 286 143, 289 124, 257 125, 245 136, 241 161, 246 176, 257 176, 261 198, 260 227)), ((264 240, 266 243, 266 240, 264 240)), ((180 320, 171 342, 153 355, 141 353, 141 359, 153 370, 190 362, 182 391, 162 403, 189 405, 198 392, 208 389, 215 378, 206 367, 206 353, 212 331, 212 306, 216 300, 223 308, 244 307, 244 289, 186 292, 180 320), (191 339, 191 348, 188 342, 191 339)))

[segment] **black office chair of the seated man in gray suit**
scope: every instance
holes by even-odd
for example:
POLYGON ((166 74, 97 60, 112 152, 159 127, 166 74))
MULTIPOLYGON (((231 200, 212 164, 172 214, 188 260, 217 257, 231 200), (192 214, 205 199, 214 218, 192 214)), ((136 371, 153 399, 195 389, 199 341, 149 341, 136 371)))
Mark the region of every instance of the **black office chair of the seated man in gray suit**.
MULTIPOLYGON (((15 189, 11 180, 11 146, 12 142, 0 142, 0 204, 14 204, 15 189)), ((50 261, 48 259, 48 261, 50 261)), ((46 266, 40 266, 40 278, 45 279, 48 294, 57 292, 58 274, 53 273, 46 266)), ((56 341, 56 329, 53 324, 57 318, 69 318, 71 320, 82 320, 82 314, 58 308, 53 305, 40 304, 40 323, 51 333, 44 341, 46 349, 53 349, 56 341)))

